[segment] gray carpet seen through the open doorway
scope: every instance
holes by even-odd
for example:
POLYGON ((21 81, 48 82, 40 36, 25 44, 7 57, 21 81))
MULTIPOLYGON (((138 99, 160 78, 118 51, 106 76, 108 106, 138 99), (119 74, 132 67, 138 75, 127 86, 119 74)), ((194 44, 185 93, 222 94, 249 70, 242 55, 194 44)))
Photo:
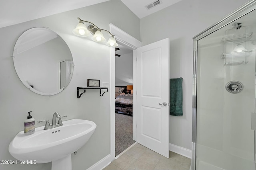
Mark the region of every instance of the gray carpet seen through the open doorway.
POLYGON ((116 156, 134 142, 132 140, 132 116, 116 113, 116 156))

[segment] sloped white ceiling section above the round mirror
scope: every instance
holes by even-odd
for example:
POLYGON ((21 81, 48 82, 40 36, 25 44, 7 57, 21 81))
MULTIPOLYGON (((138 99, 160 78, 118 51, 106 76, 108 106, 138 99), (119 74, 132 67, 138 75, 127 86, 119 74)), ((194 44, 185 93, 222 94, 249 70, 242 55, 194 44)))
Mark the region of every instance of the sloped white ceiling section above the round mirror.
POLYGON ((0 28, 108 0, 1 0, 0 28))

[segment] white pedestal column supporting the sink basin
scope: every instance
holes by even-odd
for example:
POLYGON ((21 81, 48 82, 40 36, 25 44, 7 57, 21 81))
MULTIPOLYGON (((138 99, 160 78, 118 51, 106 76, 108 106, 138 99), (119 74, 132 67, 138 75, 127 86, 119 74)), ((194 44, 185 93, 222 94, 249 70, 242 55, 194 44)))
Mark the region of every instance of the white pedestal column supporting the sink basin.
POLYGON ((52 161, 52 170, 72 170, 71 154, 52 161))

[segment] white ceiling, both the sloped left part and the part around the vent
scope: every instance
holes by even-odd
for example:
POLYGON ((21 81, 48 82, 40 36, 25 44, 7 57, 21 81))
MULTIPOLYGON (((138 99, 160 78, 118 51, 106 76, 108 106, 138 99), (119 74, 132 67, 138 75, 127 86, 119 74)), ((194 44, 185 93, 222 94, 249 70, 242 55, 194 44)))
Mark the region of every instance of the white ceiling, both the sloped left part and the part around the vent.
MULTIPOLYGON (((70 11, 108 0, 0 0, 0 28, 70 11)), ((162 4, 146 9, 156 0, 121 0, 138 18, 143 18, 181 0, 161 0, 162 4)))

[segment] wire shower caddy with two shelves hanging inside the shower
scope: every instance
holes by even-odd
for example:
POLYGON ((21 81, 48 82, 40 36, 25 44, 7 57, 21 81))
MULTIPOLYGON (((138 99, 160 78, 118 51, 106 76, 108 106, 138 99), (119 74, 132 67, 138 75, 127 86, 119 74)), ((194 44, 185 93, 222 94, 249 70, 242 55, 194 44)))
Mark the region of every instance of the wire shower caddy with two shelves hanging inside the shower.
MULTIPOLYGON (((232 25, 233 26, 233 25, 232 25)), ((246 27, 246 26, 244 26, 246 27)), ((234 30, 235 28, 228 29, 226 31, 234 30)), ((240 29, 240 28, 238 28, 240 29)), ((221 58, 224 59, 224 66, 225 65, 240 65, 240 64, 246 64, 248 63, 247 57, 249 57, 252 54, 252 50, 247 50, 247 41, 252 37, 252 33, 247 32, 247 27, 246 27, 246 33, 244 34, 239 34, 239 35, 232 35, 232 36, 226 36, 226 31, 224 38, 222 38, 221 42, 224 44, 224 53, 222 53, 221 58), (245 49, 244 51, 237 52, 226 52, 226 44, 227 43, 245 43, 245 49), (228 63, 226 62, 226 59, 233 59, 237 57, 244 57, 244 60, 239 60, 239 61, 229 61, 228 63)))

